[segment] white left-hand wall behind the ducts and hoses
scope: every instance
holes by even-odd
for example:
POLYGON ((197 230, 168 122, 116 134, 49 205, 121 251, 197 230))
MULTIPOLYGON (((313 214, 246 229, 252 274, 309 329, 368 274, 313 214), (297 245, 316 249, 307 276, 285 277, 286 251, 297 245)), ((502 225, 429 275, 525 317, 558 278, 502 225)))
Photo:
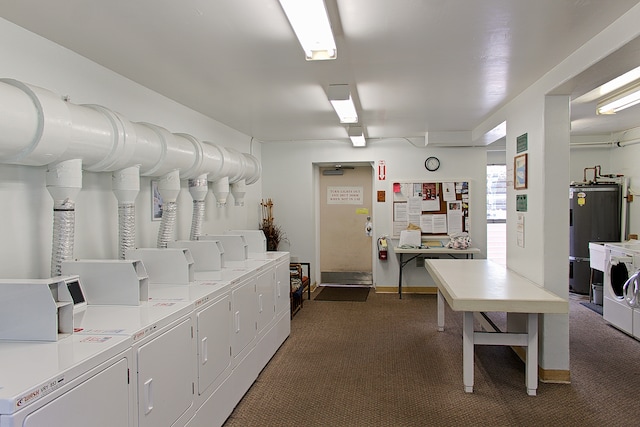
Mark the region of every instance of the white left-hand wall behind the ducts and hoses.
MULTIPOLYGON (((215 120, 146 89, 40 36, 0 19, 0 78, 12 78, 67 95, 75 104, 98 104, 132 122, 149 122, 173 133, 251 152, 260 144, 215 120)), ((1 102, 1 100, 0 100, 1 102)), ((50 274, 53 202, 45 189, 45 167, 0 165, 0 277, 41 278, 50 274)), ((136 201, 136 244, 155 247, 159 222, 151 221, 149 178, 143 178, 136 201)), ((247 186, 245 207, 215 207, 211 192, 203 232, 257 228, 261 185, 247 186)), ((182 183, 176 238, 189 237, 192 199, 182 183)), ((117 257, 117 202, 110 173, 83 174, 76 203, 76 258, 117 257)))

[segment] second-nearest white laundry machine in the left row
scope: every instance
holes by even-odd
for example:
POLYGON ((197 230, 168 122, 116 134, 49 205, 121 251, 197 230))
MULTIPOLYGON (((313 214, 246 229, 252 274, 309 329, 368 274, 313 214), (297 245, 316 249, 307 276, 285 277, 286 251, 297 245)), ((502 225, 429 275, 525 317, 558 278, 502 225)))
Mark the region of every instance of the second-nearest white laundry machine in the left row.
POLYGON ((131 337, 137 427, 181 425, 195 412, 192 312, 188 302, 145 301, 139 306, 88 305, 74 315, 74 336, 131 337))

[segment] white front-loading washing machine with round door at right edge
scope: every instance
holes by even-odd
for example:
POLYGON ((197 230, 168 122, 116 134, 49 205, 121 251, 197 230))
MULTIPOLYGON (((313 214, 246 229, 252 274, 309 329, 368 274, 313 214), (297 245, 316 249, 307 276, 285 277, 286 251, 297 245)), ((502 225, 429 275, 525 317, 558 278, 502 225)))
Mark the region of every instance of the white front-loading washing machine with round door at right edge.
POLYGON ((605 259, 602 316, 612 326, 633 335, 634 309, 627 302, 623 288, 629 278, 640 270, 640 245, 607 243, 605 259))

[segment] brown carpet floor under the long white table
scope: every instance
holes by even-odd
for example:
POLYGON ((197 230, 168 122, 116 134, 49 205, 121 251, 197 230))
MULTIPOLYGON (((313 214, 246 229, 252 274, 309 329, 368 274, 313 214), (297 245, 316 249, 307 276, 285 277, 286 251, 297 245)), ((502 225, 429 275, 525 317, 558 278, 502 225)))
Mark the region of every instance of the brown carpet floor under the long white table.
POLYGON ((476 347, 464 392, 462 315, 447 307, 437 332, 434 295, 305 301, 225 426, 640 425, 640 342, 580 302, 570 299, 571 384, 540 383, 531 397, 503 346, 476 347))

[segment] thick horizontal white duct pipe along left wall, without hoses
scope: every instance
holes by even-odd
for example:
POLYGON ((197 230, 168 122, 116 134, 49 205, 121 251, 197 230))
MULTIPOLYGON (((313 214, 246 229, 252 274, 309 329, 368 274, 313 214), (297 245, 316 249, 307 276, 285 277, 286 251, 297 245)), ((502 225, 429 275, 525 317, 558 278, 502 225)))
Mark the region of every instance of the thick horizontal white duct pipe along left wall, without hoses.
POLYGON ((255 157, 150 123, 133 123, 99 105, 75 105, 52 92, 0 79, 0 163, 44 166, 80 159, 92 172, 139 165, 142 176, 178 170, 180 179, 204 174, 215 182, 253 184, 255 157))

